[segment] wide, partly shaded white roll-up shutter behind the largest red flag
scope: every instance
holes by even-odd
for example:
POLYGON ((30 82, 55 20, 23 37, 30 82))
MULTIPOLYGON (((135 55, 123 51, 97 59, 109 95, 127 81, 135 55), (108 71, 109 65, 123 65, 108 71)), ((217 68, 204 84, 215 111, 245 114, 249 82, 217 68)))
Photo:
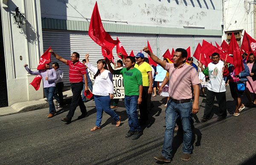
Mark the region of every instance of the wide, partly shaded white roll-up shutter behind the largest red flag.
MULTIPOLYGON (((136 55, 145 46, 147 46, 147 40, 149 41, 152 51, 157 53, 157 38, 156 35, 144 35, 144 34, 118 34, 111 33, 111 37, 116 39, 119 38, 122 45, 124 46, 127 54, 134 51, 136 55)), ((70 59, 70 54, 74 51, 80 54, 80 61, 84 59, 86 53, 90 54, 90 62, 96 65, 97 60, 102 59, 101 47, 97 45, 84 31, 51 31, 43 30, 43 45, 44 50, 47 50, 49 46, 61 57, 70 59)), ((119 57, 116 55, 116 48, 113 48, 113 55, 115 60, 119 57)), ((64 71, 64 85, 70 86, 68 78, 68 66, 59 62, 54 57, 52 62, 58 62, 60 68, 64 71)))

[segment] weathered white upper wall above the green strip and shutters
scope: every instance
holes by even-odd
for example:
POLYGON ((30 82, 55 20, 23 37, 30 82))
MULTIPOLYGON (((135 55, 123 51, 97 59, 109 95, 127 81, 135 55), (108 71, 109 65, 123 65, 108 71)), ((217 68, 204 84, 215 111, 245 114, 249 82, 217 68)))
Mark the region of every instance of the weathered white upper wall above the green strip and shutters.
MULTIPOLYGON (((90 21, 96 0, 40 0, 42 18, 90 21)), ((97 0, 104 23, 221 30, 221 0, 97 0), (104 21, 105 20, 105 21, 104 21), (116 21, 116 22, 115 22, 116 21)))

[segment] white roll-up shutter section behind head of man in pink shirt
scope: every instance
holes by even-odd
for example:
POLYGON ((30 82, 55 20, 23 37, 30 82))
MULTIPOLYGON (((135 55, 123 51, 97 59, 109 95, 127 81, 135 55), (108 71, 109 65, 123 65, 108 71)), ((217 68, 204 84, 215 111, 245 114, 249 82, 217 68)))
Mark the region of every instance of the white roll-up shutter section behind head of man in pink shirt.
POLYGON ((193 55, 193 37, 188 35, 159 35, 159 57, 163 59, 163 54, 169 48, 172 53, 172 48, 187 49, 190 46, 191 55, 193 55))

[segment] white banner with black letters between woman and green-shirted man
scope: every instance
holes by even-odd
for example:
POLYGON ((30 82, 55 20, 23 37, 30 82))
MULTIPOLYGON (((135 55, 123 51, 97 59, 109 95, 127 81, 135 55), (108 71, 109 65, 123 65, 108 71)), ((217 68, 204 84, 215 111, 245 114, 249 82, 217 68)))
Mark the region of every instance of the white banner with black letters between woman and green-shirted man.
POLYGON ((114 91, 113 91, 114 99, 125 98, 125 88, 123 83, 123 77, 121 74, 113 75, 113 84, 114 84, 114 91))

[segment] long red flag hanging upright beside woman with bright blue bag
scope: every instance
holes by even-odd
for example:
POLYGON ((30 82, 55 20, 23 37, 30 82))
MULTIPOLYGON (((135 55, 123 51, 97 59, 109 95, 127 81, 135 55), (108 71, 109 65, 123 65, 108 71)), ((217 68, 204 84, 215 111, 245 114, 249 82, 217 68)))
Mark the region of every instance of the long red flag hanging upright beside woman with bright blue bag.
POLYGON ((238 43, 236 42, 236 37, 234 33, 232 33, 232 36, 230 39, 230 48, 228 50, 228 53, 233 54, 235 74, 238 75, 241 71, 244 70, 244 64, 243 64, 241 52, 240 52, 238 43))

